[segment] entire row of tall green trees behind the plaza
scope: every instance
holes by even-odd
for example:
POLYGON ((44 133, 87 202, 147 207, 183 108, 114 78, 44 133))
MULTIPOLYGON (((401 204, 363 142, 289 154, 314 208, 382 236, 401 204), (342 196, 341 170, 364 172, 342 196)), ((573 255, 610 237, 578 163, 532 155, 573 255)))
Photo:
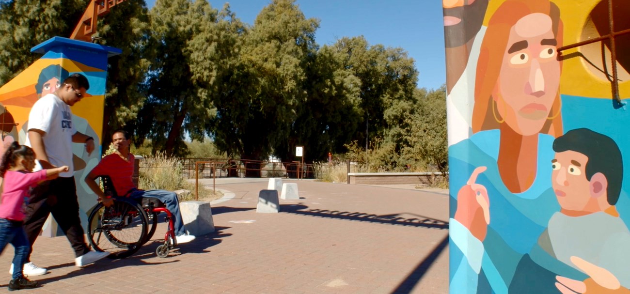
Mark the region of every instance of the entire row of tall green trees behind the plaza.
MULTIPOLYGON (((38 58, 31 47, 70 35, 88 2, 0 1, 0 84, 38 58)), ((417 88, 421 60, 363 36, 320 47, 319 20, 295 0, 270 1, 252 25, 207 0, 125 1, 99 21, 100 42, 123 50, 108 60, 104 133, 125 128, 178 156, 211 140, 240 159, 364 148, 387 169, 446 170, 445 91, 417 88)))

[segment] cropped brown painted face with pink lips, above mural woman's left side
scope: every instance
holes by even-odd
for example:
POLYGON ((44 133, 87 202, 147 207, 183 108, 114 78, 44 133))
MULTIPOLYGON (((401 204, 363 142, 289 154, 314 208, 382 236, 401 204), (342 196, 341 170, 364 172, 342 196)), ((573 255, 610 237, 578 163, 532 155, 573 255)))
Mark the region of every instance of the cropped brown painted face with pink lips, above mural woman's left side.
POLYGON ((447 48, 466 44, 483 24, 488 0, 442 0, 447 48))

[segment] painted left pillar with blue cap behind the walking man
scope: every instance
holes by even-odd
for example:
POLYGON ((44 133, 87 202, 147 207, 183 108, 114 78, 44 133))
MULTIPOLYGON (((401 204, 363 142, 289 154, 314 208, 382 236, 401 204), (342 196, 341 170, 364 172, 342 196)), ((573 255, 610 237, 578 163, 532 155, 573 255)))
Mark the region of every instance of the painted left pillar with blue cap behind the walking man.
MULTIPOLYGON (((0 88, 0 123, 3 123, 3 139, 11 136, 24 144, 28 126, 28 114, 37 99, 54 93, 61 82, 71 74, 81 73, 88 78, 90 88, 81 103, 72 106, 72 123, 77 131, 95 138, 100 146, 105 106, 105 79, 108 55, 120 50, 88 42, 55 37, 37 47, 33 52, 43 54, 18 76, 0 88), (5 122, 6 120, 6 122, 5 122)), ((82 222, 87 222, 86 212, 96 204, 96 197, 84 183, 85 172, 100 160, 100 150, 88 154, 83 144, 73 144, 74 177, 79 196, 82 222)), ((59 235, 56 225, 49 218, 43 235, 59 235)))

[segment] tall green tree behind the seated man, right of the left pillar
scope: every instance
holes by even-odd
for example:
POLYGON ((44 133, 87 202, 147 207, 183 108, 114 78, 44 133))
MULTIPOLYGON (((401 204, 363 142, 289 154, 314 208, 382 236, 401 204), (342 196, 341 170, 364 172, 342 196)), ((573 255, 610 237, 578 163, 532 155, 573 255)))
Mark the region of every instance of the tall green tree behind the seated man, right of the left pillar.
MULTIPOLYGON (((224 14, 230 14, 229 11, 224 14)), ((154 150, 185 155, 185 133, 202 140, 215 115, 212 93, 224 57, 224 22, 206 0, 158 0, 150 12, 153 50, 148 97, 135 128, 154 150)))

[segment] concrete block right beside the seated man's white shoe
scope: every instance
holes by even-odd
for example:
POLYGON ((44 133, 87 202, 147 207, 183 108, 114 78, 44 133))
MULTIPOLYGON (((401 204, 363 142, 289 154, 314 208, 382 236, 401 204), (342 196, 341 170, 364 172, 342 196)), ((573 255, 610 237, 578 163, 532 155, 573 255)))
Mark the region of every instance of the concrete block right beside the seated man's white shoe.
POLYGON ((184 227, 191 235, 200 236, 214 232, 212 208, 209 202, 180 202, 180 212, 184 227))

